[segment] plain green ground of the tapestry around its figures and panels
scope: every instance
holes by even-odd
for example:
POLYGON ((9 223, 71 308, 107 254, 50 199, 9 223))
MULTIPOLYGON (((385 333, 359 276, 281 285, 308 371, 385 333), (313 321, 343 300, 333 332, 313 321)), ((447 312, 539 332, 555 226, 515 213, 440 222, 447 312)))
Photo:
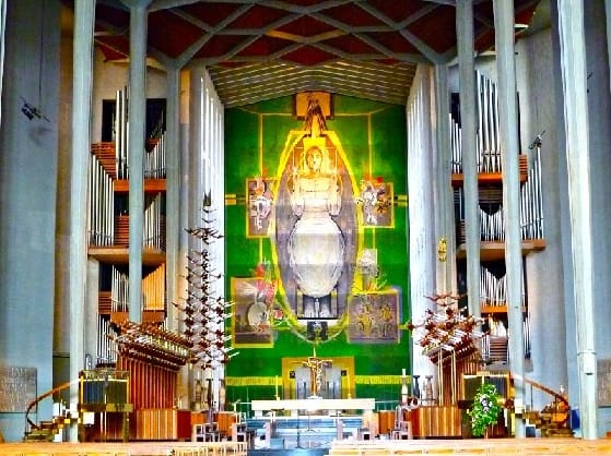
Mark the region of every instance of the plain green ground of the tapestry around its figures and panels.
MULTIPOLYGON (((333 106, 334 116, 327 119, 327 128, 337 132, 355 181, 380 177, 393 183, 395 227, 365 229, 363 247, 378 249, 381 273, 389 285, 401 290, 404 323, 409 315, 404 108, 341 95, 333 96, 333 106)), ((293 117, 292 111, 293 97, 225 110, 225 193, 237 196, 236 204, 225 206, 227 296, 231 277, 250 277, 261 260, 272 259, 268 239, 246 238, 246 179, 275 176, 289 131, 303 129, 303 120, 293 117)), ((273 348, 240 347, 238 351, 226 369, 227 404, 273 398, 274 376, 282 373, 282 358, 312 356, 313 346, 290 331, 281 331, 274 335, 273 348), (249 376, 268 376, 270 382, 262 386, 231 385, 232 377, 249 376)), ((410 371, 410 334, 401 331, 399 344, 372 345, 348 344, 342 334, 320 344, 317 355, 354 357, 356 397, 392 401, 399 398, 401 369, 410 371), (360 377, 372 375, 396 375, 396 384, 360 383, 360 377)))

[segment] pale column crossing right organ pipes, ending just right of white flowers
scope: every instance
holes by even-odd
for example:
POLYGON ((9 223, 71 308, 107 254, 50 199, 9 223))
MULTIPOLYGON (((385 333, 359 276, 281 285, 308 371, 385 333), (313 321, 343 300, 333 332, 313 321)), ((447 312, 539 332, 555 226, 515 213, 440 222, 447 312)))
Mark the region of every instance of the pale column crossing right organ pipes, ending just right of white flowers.
MULTIPOLYGON (((503 166, 503 212, 505 221, 505 269, 509 323, 509 364, 514 374, 516 404, 524 404, 524 317, 521 310, 521 236, 518 169, 518 110, 514 60, 514 2, 494 1, 494 33, 498 74, 498 128, 503 166)), ((516 436, 526 436, 525 423, 516 421, 516 436)))

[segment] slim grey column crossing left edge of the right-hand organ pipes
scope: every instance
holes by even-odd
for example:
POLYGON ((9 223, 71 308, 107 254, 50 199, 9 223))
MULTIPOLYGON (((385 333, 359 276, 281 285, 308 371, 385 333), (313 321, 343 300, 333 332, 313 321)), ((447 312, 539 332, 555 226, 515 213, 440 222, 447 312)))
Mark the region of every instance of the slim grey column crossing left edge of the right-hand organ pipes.
POLYGON ((475 64, 473 58, 473 1, 457 0, 456 33, 460 82, 460 131, 465 191, 465 236, 467 240, 467 299, 469 313, 480 308, 480 221, 478 190, 478 144, 475 137, 475 64))

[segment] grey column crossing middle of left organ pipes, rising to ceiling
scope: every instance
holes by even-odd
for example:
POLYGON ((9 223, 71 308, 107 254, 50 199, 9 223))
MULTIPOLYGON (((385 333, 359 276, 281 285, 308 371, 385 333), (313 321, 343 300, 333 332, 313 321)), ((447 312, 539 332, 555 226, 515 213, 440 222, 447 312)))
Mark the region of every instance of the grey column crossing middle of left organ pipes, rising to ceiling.
POLYGON ((129 320, 142 321, 142 236, 144 225, 144 122, 146 119, 146 7, 129 17, 129 320))

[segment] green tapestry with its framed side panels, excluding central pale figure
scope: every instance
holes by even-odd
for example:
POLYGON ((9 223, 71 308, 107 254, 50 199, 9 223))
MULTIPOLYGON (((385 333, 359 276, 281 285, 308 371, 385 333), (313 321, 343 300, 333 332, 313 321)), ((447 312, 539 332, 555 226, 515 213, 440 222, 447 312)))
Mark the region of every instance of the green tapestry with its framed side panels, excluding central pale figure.
POLYGON ((307 296, 282 251, 298 218, 291 175, 310 141, 295 101, 225 110, 225 286, 236 301, 231 331, 239 351, 227 364, 226 403, 304 394, 296 383, 315 349, 341 375, 339 386, 324 385, 324 397, 397 400, 401 370, 410 367, 402 328, 409 319, 404 108, 331 98, 324 148, 329 173, 341 182, 341 212, 332 218, 345 264, 326 304, 316 301, 308 317, 307 296), (324 305, 330 313, 318 313, 324 305))

